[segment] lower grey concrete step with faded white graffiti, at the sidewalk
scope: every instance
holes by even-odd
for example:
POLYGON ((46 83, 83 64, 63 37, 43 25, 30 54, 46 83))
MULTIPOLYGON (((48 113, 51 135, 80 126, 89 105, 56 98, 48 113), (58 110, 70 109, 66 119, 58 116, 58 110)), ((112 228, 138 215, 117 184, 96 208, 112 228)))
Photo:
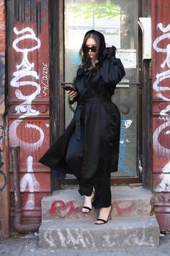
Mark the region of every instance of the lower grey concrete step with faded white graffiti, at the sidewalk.
POLYGON ((153 217, 117 217, 104 225, 92 220, 42 221, 39 246, 51 249, 112 249, 159 244, 159 229, 153 217))

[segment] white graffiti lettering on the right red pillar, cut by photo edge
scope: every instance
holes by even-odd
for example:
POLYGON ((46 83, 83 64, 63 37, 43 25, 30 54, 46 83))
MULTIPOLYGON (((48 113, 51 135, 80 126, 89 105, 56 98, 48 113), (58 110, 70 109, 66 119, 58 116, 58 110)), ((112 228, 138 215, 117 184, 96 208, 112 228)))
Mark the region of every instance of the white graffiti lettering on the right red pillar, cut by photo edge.
MULTIPOLYGON (((167 97, 167 92, 170 91, 169 86, 161 85, 162 82, 165 84, 170 79, 170 44, 168 43, 165 48, 161 48, 161 43, 164 40, 169 42, 170 38, 170 24, 164 27, 162 23, 158 24, 158 29, 161 30, 163 35, 159 35, 153 42, 153 48, 157 53, 164 53, 166 57, 161 63, 162 72, 156 74, 156 80, 153 82, 153 90, 156 91, 158 98, 166 101, 164 109, 161 109, 160 115, 164 117, 159 118, 161 124, 158 124, 155 132, 153 133, 153 148, 156 150, 158 157, 169 158, 170 148, 169 148, 169 133, 170 133, 170 120, 169 114, 170 103, 169 97, 167 97), (165 68, 168 69, 165 70, 165 68)), ((156 191, 168 191, 170 192, 170 178, 167 174, 170 170, 170 162, 166 163, 162 168, 162 174, 160 175, 161 183, 156 187, 156 191)))

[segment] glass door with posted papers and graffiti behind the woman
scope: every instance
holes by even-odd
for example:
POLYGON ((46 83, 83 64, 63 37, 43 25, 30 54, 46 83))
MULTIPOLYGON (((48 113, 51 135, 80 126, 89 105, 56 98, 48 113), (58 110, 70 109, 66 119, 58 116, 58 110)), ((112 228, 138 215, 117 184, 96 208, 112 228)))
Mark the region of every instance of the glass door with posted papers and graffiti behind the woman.
MULTIPOLYGON (((63 9, 64 31, 62 33, 61 29, 60 34, 60 41, 63 40, 63 62, 60 64, 60 69, 63 68, 64 74, 61 84, 72 83, 76 76, 76 69, 81 64, 79 48, 86 31, 98 30, 103 33, 107 47, 114 45, 117 48, 116 56, 124 64, 126 76, 117 85, 115 95, 112 97, 121 114, 119 171, 112 174, 112 183, 139 182, 140 127, 142 127, 141 84, 138 68, 141 55, 138 43, 140 1, 65 0, 61 9, 63 9)), ((65 94, 64 128, 68 126, 76 108, 76 103, 70 106, 68 101, 68 95, 65 94)), ((67 174, 65 184, 73 182, 73 176, 67 174)))

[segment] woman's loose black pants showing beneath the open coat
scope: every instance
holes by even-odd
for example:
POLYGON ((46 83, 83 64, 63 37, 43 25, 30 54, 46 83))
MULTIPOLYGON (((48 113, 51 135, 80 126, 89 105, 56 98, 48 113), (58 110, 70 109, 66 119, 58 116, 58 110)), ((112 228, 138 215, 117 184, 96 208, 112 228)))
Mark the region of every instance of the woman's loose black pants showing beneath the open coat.
POLYGON ((81 166, 84 155, 84 126, 81 125, 81 140, 76 140, 75 131, 71 135, 66 153, 66 163, 73 170, 79 182, 80 195, 90 196, 95 189, 95 208, 107 208, 111 205, 110 172, 102 171, 99 176, 84 179, 81 176, 81 166))

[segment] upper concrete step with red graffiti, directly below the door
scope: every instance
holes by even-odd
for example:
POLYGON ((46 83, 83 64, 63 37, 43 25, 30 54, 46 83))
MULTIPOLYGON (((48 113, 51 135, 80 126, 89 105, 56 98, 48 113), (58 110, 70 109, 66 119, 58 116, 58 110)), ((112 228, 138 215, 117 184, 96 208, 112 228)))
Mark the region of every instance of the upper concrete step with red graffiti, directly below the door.
MULTIPOLYGON (((143 187, 115 186, 112 190, 112 217, 149 216, 152 193, 143 187)), ((59 218, 95 219, 99 211, 81 213, 84 197, 77 189, 62 189, 53 192, 52 196, 42 198, 42 220, 59 218)))

